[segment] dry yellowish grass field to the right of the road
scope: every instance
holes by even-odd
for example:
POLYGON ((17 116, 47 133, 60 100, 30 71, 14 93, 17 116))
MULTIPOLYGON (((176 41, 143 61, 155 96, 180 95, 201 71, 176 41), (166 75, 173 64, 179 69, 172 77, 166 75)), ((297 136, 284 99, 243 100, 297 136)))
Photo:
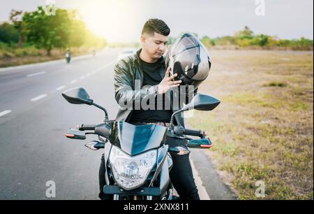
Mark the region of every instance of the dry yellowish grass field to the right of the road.
POLYGON ((313 51, 213 50, 200 92, 220 99, 188 124, 239 199, 313 199, 313 51), (265 184, 257 198, 255 183, 265 184))

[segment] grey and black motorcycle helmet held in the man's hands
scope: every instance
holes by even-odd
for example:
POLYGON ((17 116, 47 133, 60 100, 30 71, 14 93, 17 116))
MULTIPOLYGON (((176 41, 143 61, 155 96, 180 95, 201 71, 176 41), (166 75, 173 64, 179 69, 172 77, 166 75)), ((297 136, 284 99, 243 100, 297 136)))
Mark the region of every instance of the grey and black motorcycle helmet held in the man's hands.
POLYGON ((209 75, 211 59, 202 42, 193 34, 184 34, 167 51, 165 64, 170 73, 177 73, 176 80, 181 85, 193 85, 195 88, 209 75))

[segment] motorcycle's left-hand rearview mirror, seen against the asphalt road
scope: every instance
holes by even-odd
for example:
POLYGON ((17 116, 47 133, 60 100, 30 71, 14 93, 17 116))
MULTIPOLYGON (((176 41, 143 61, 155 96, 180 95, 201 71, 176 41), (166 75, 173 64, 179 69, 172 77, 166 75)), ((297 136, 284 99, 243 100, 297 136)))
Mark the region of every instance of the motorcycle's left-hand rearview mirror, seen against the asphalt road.
POLYGON ((62 93, 62 96, 70 104, 87 104, 91 106, 93 100, 89 99, 89 94, 82 87, 74 87, 62 93))

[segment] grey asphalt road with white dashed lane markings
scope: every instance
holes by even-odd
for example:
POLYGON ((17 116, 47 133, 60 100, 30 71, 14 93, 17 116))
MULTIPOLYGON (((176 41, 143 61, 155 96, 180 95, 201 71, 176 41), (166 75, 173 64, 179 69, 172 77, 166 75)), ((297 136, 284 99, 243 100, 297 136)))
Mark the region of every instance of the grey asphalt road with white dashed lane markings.
MULTIPOLYGON (((61 92, 84 87, 114 119, 112 74, 118 54, 105 49, 70 64, 58 60, 0 69, 0 199, 98 199, 102 151, 91 151, 86 141, 64 133, 76 124, 98 124, 104 114, 94 106, 68 104, 61 92), (48 198, 51 180, 56 196, 48 198)), ((95 139, 87 136, 87 141, 95 139)), ((234 199, 205 152, 191 154, 201 198, 234 199)))

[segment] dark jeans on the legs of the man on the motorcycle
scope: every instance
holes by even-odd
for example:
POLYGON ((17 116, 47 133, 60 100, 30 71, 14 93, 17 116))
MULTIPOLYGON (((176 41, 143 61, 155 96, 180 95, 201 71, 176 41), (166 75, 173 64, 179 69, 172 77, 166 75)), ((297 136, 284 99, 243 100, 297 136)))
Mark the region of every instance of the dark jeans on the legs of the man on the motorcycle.
MULTIPOLYGON (((180 145, 183 143, 179 139, 168 138, 167 144, 170 146, 180 145)), ((174 185, 174 189, 177 190, 181 200, 200 200, 197 192, 197 187, 193 178, 192 168, 190 166, 189 155, 177 155, 177 153, 170 152, 172 157, 173 166, 170 171, 170 180, 174 185)), ((100 199, 112 199, 111 195, 103 193, 103 186, 105 183, 105 160, 101 157, 100 169, 99 169, 99 187, 100 187, 100 199)))

